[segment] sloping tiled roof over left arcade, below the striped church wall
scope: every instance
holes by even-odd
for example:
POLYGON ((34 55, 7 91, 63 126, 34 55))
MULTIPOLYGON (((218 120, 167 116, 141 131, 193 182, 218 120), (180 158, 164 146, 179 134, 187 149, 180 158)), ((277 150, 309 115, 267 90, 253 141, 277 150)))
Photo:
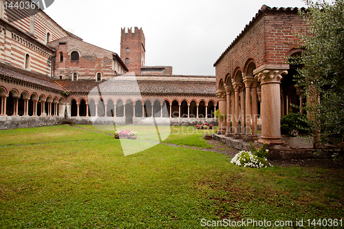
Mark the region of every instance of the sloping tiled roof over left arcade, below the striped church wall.
POLYGON ((34 72, 30 72, 25 69, 19 69, 17 67, 12 67, 3 63, 0 63, 0 76, 12 78, 13 80, 21 82, 32 83, 41 87, 49 87, 50 89, 55 89, 57 91, 63 91, 63 89, 56 85, 56 83, 54 83, 54 80, 52 80, 48 76, 36 74, 34 72))

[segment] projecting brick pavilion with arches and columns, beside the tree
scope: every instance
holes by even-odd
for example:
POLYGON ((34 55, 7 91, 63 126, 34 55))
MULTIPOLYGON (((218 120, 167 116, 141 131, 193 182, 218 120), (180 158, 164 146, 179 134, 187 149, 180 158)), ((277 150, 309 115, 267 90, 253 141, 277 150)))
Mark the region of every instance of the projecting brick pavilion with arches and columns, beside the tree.
POLYGON ((291 104, 305 102, 301 88, 293 82, 298 66, 286 64, 286 57, 304 51, 295 33, 304 34, 307 25, 298 12, 298 8, 262 6, 215 62, 219 111, 227 115, 220 120, 220 133, 268 142, 272 148, 285 145, 280 118, 291 104), (259 139, 257 118, 261 121, 259 139))

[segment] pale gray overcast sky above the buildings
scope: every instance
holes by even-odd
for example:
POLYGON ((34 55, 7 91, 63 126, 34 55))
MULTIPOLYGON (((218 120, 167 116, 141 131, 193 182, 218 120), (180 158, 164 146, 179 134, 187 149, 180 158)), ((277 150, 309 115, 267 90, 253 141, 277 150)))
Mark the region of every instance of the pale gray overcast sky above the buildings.
POLYGON ((118 54, 120 28, 142 27, 147 66, 215 75, 213 63, 264 4, 305 6, 301 0, 55 0, 45 12, 84 41, 118 54))

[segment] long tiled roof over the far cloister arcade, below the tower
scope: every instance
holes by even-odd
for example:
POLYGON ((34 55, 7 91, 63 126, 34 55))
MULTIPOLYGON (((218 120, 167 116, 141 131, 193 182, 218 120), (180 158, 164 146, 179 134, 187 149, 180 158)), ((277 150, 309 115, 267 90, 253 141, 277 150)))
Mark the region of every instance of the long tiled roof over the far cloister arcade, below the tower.
POLYGON ((69 93, 102 94, 184 94, 215 96, 215 82, 159 81, 159 80, 108 80, 103 83, 94 80, 56 80, 69 93))

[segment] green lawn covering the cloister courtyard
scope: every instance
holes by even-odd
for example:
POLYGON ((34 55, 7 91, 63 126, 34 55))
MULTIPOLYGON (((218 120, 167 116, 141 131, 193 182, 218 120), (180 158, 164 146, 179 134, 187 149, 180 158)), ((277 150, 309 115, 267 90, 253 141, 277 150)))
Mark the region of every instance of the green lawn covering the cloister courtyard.
MULTIPOLYGON (((142 128, 153 135, 131 129, 142 128)), ((204 131, 167 128, 164 142, 211 148, 204 131)), ((166 144, 125 157, 119 140, 89 130, 0 131, 0 228, 202 228, 202 219, 295 228, 344 216, 341 169, 241 168, 228 155, 166 144)))

